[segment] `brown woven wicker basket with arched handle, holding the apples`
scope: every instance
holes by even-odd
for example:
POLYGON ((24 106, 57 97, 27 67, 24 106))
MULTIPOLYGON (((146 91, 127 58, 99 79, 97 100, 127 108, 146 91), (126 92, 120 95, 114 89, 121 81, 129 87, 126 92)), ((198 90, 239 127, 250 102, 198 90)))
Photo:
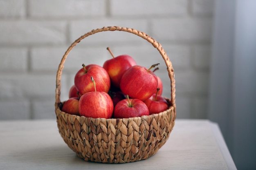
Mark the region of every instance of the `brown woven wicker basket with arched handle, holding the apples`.
POLYGON ((75 40, 67 49, 56 75, 55 113, 61 137, 85 161, 126 163, 147 159, 161 148, 173 129, 176 117, 175 79, 169 57, 161 44, 143 32, 119 26, 94 29, 75 40), (150 42, 162 55, 171 79, 170 107, 158 114, 125 119, 90 118, 61 111, 61 74, 68 53, 82 39, 102 31, 125 31, 150 42))

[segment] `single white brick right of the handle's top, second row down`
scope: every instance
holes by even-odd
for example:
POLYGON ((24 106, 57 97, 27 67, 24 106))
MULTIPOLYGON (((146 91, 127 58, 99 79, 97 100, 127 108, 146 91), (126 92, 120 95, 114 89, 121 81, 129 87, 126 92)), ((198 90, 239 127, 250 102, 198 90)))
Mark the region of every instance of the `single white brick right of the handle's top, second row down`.
POLYGON ((209 18, 160 18, 152 20, 152 36, 173 42, 208 42, 212 21, 209 18))

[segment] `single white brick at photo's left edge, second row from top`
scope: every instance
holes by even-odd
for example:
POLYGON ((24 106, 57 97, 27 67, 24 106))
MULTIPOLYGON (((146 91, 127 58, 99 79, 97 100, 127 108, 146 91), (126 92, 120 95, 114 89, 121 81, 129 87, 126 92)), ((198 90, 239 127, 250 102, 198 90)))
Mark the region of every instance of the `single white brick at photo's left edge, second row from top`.
POLYGON ((67 25, 64 21, 2 20, 0 44, 64 44, 67 25))

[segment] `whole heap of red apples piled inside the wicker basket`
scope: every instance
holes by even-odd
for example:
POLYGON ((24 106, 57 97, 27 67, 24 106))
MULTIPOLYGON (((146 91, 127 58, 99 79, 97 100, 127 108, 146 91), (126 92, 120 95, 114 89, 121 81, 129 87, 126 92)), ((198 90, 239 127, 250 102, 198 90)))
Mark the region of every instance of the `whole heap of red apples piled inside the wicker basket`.
POLYGON ((61 110, 92 118, 128 118, 159 113, 168 108, 162 97, 161 79, 151 69, 139 66, 129 55, 115 57, 103 66, 90 64, 74 77, 69 99, 61 110))

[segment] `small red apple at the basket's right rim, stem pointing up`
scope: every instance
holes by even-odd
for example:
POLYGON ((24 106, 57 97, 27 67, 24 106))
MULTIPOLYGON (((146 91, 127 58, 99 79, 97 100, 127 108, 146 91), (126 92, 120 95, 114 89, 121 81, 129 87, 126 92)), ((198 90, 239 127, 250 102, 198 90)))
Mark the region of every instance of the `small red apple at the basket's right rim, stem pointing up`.
MULTIPOLYGON (((157 88, 157 93, 159 88, 157 88)), ((144 101, 147 105, 149 114, 160 113, 168 108, 168 103, 161 95, 153 94, 149 99, 144 101)))

